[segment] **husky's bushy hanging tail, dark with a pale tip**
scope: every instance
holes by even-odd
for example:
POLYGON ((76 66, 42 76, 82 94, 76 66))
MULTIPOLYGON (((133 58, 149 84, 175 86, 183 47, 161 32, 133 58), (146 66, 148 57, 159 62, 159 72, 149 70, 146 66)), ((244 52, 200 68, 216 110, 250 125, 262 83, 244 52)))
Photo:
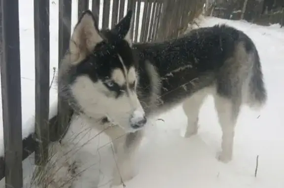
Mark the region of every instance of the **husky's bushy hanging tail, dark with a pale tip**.
POLYGON ((250 108, 260 109, 266 103, 267 92, 263 82, 260 59, 256 48, 253 50, 253 56, 247 103, 250 108))

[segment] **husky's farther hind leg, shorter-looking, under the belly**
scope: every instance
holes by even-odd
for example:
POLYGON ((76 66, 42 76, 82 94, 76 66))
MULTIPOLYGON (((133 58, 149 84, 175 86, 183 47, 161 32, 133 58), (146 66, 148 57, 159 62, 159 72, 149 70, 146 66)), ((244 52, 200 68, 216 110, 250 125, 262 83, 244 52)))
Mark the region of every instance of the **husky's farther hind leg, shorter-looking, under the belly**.
POLYGON ((194 93, 192 96, 190 96, 183 102, 183 111, 187 116, 186 129, 181 133, 183 137, 188 138, 197 133, 199 110, 203 104, 205 97, 208 94, 209 93, 206 92, 206 89, 204 89, 194 93))

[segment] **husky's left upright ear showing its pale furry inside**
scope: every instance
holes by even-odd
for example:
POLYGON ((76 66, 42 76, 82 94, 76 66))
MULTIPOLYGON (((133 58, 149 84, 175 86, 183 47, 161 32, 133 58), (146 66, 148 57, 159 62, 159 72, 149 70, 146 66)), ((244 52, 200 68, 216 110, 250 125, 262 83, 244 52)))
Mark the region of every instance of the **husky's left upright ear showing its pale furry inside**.
POLYGON ((71 36, 69 49, 72 54, 86 55, 95 45, 103 41, 97 22, 90 10, 84 11, 71 36))

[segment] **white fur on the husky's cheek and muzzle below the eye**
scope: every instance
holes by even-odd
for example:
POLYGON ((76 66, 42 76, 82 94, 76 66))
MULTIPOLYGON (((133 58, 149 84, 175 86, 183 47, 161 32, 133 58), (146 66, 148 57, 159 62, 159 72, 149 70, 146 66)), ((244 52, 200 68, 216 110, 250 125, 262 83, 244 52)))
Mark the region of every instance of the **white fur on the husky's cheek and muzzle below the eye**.
POLYGON ((94 118, 108 116, 126 132, 132 131, 130 118, 136 110, 143 113, 142 106, 136 93, 126 94, 121 97, 107 97, 107 91, 102 82, 94 83, 88 76, 82 75, 76 78, 71 85, 71 92, 84 113, 94 118))

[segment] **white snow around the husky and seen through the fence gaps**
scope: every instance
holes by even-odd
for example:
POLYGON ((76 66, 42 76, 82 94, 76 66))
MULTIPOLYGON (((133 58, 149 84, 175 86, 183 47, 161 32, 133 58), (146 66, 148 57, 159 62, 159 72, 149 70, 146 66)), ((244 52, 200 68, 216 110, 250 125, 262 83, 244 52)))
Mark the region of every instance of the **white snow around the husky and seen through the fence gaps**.
MULTIPOLYGON (((53 67, 57 68, 58 64, 58 3, 57 0, 55 2, 50 2, 50 79, 53 76, 53 67)), ((33 0, 19 3, 22 118, 25 138, 34 131, 33 0)), ((102 6, 100 8, 102 9, 102 6)), ((72 15, 73 27, 77 17, 75 8, 72 8, 72 15)), ((147 129, 137 158, 137 176, 125 182, 128 188, 284 188, 284 103, 281 100, 284 96, 284 28, 279 25, 266 27, 213 17, 202 20, 201 26, 213 26, 217 23, 236 27, 255 42, 268 90, 267 105, 260 112, 242 108, 235 133, 234 159, 227 164, 218 162, 215 158, 220 149, 221 131, 211 97, 208 97, 201 109, 199 132, 191 138, 180 136, 186 125, 186 117, 181 107, 162 114, 158 118, 164 121, 156 121, 154 126, 147 129), (255 178, 257 155, 258 173, 255 178)), ((50 116, 56 113, 56 92, 54 85, 50 90, 50 116)), ((100 168, 104 175, 100 187, 108 188, 107 183, 111 178, 109 172, 114 164, 113 156, 107 138, 100 137, 100 145, 100 168)), ((0 155, 3 155, 2 126, 0 155)), ((24 177, 27 179, 34 168, 33 155, 23 162, 23 168, 24 177)), ((4 187, 4 180, 0 181, 0 185, 4 187)))

